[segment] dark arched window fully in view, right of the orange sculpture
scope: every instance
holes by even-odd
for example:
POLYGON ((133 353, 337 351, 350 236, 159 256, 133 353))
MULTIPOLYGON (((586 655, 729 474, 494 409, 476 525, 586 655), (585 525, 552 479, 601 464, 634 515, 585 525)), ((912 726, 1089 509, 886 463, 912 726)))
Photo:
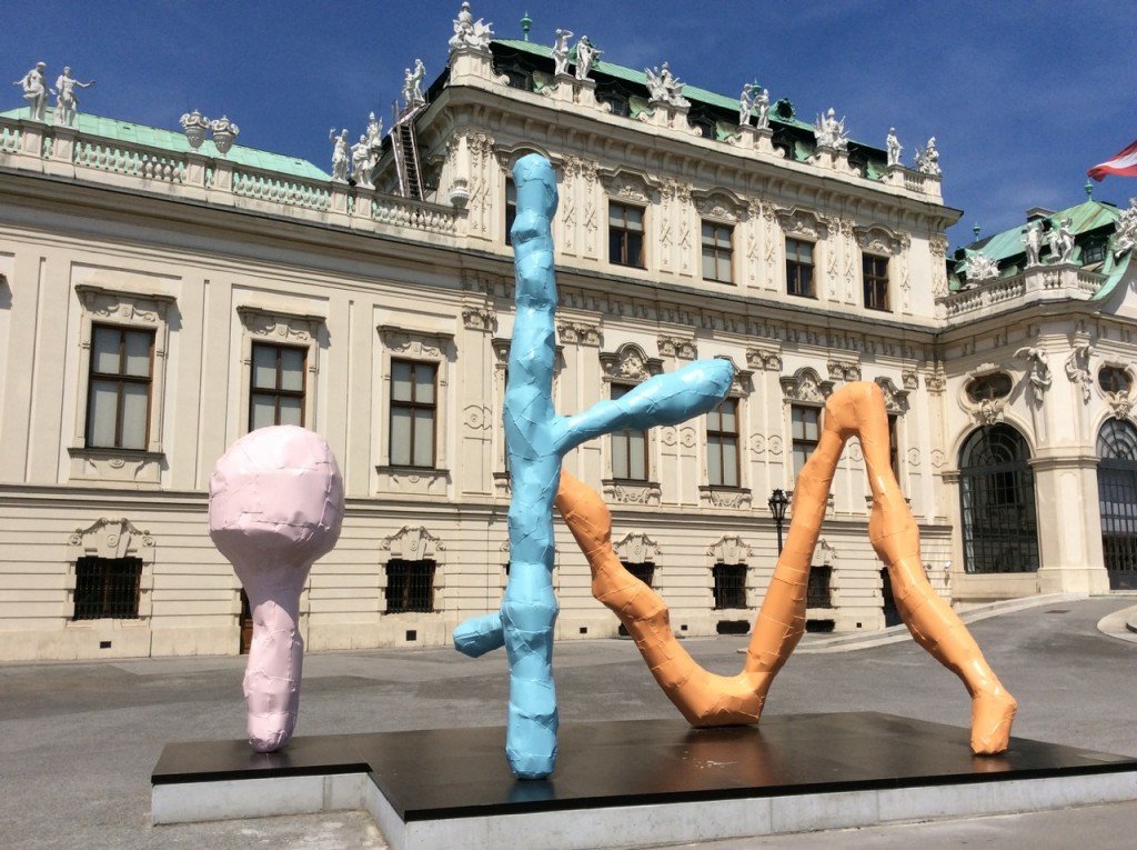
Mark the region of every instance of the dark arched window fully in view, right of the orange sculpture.
POLYGON ((963 569, 1038 569, 1035 474, 1027 440, 1007 424, 979 428, 960 452, 963 569))

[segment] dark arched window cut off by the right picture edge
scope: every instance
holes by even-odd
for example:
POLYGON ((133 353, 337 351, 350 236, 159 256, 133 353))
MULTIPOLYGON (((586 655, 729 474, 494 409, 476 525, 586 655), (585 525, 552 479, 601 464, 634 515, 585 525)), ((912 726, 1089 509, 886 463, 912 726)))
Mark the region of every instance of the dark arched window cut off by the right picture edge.
POLYGON ((1102 554, 1110 587, 1137 588, 1137 428, 1122 419, 1106 420, 1097 435, 1097 456, 1102 554))

